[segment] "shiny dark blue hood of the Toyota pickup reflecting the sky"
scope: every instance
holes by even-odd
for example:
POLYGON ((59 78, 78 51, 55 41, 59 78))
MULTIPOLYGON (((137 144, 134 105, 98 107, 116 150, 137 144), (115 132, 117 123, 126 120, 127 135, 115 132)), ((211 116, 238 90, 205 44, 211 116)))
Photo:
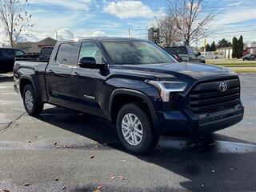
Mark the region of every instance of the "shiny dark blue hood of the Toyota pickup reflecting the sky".
POLYGON ((222 66, 213 66, 191 62, 174 62, 165 64, 149 65, 123 65, 122 70, 127 73, 148 74, 152 78, 193 78, 194 80, 204 78, 216 78, 223 75, 235 75, 231 70, 222 66))

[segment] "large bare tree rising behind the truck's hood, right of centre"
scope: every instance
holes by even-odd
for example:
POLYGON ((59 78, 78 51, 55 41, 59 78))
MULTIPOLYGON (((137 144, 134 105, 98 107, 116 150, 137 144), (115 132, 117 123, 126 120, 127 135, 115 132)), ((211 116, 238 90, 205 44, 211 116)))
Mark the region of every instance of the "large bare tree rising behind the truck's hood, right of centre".
POLYGON ((198 39, 206 38, 210 34, 209 24, 217 14, 209 0, 167 0, 167 14, 173 18, 172 22, 182 32, 184 25, 184 43, 190 45, 198 39))

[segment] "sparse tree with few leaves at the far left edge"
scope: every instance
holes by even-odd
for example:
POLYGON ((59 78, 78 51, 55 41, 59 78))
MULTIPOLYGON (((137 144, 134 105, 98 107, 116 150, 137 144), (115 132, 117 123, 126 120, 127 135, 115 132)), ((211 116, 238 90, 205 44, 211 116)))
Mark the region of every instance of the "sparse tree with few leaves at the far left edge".
POLYGON ((14 47, 22 31, 30 25, 31 14, 28 13, 28 0, 0 0, 0 22, 9 38, 10 46, 14 47))

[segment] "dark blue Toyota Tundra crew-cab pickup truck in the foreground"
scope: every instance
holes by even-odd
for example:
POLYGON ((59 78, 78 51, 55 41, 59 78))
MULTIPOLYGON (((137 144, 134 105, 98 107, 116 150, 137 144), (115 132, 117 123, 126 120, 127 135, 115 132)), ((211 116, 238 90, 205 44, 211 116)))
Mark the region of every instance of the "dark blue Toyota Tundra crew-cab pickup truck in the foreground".
POLYGON ((244 113, 237 74, 177 62, 153 42, 132 38, 58 42, 49 62, 15 63, 14 89, 30 115, 50 103, 110 120, 135 154, 153 149, 166 131, 210 134, 244 113))

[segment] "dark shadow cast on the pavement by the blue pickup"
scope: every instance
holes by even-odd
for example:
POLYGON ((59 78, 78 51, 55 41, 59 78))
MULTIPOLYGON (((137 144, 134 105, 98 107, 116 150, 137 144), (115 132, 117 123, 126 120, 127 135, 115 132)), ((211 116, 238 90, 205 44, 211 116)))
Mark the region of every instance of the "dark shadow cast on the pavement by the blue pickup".
MULTIPOLYGON (((122 150, 114 126, 102 118, 54 107, 44 110, 39 119, 61 129, 90 138, 102 146, 107 145, 110 150, 121 150, 130 154, 122 150)), ((182 179, 186 182, 179 183, 185 190, 256 190, 256 146, 254 143, 237 138, 230 138, 221 134, 212 134, 208 138, 198 139, 177 138, 167 135, 160 139, 158 147, 152 153, 134 156, 141 161, 150 162, 169 170, 170 175, 176 174, 186 178, 182 179)), ((143 170, 138 171, 142 172, 143 170)), ((166 184, 166 186, 143 189, 143 191, 173 191, 174 188, 170 183, 171 181, 169 181, 169 186, 166 184)), ((119 191, 118 189, 115 190, 119 191)), ((88 188, 75 191, 88 191, 88 188)))

